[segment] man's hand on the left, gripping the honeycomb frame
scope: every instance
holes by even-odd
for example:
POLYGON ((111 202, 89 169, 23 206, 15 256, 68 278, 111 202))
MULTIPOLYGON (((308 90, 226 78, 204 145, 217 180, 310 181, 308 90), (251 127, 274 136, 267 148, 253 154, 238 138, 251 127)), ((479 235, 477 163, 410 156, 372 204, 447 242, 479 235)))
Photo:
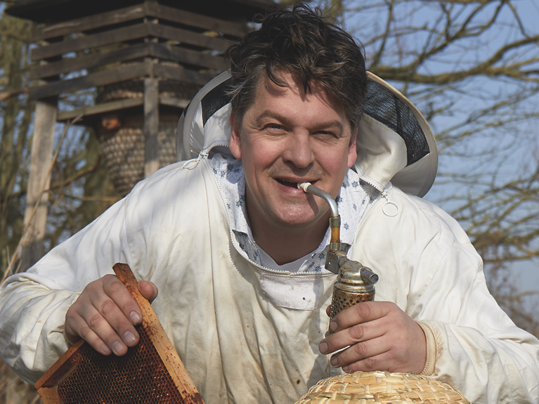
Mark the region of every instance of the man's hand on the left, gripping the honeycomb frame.
MULTIPOLYGON (((141 280, 138 290, 149 301, 157 297, 152 282, 141 280)), ((124 284, 105 275, 86 285, 65 314, 65 337, 72 342, 82 338, 103 355, 122 356, 138 344, 134 325, 141 321, 141 309, 124 284)))

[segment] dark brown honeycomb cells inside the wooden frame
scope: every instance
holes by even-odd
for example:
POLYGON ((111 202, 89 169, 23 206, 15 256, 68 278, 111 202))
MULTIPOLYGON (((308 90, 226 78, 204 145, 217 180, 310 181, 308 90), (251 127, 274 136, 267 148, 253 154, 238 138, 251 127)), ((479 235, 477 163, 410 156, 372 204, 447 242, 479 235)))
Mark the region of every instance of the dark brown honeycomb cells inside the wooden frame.
POLYGON ((140 341, 124 356, 103 356, 82 344, 56 385, 63 404, 185 403, 141 326, 140 341))

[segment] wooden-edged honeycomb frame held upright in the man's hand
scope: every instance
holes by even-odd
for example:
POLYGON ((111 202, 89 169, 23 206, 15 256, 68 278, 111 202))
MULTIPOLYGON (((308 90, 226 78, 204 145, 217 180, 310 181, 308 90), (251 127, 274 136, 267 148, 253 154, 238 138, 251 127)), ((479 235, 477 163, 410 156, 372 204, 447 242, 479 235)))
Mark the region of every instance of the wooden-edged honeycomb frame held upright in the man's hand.
POLYGON ((141 308, 138 345, 125 356, 103 356, 77 341, 35 384, 43 403, 204 404, 131 268, 117 263, 113 269, 141 308))

